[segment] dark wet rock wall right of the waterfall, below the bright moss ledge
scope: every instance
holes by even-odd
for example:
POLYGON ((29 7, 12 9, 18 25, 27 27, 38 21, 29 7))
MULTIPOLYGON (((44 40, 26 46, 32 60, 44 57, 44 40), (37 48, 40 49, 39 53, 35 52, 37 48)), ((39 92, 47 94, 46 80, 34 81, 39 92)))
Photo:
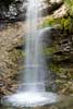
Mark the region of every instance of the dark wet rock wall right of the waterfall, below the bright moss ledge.
POLYGON ((45 34, 44 53, 48 68, 56 74, 56 90, 59 94, 73 94, 73 41, 72 33, 61 28, 51 29, 50 34, 45 34), (51 39, 51 41, 50 41, 51 39), (50 45, 49 45, 50 41, 50 45))

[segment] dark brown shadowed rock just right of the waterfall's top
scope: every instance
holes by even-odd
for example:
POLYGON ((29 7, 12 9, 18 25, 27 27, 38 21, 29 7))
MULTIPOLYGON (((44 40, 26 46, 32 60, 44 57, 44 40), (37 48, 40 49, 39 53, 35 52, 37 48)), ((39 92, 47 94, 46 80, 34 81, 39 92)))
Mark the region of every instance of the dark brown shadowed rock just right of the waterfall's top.
MULTIPOLYGON (((47 15, 53 14, 56 10, 62 10, 62 8, 59 9, 60 7, 62 7, 62 4, 63 4, 62 0, 60 0, 60 1, 58 1, 58 0, 46 0, 45 4, 44 4, 45 8, 42 9, 42 15, 47 16, 47 15)), ((64 10, 62 10, 62 12, 64 10)), ((61 13, 61 11, 59 11, 59 12, 61 13)), ((57 15, 57 13, 56 13, 56 15, 57 15)))

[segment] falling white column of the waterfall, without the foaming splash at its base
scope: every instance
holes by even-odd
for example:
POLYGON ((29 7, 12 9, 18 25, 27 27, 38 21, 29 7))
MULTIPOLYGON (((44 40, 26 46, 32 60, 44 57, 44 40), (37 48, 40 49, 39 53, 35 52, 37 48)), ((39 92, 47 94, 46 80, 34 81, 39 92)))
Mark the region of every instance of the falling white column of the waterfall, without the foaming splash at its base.
POLYGON ((24 84, 26 90, 44 90, 44 60, 41 56, 41 37, 39 35, 38 22, 41 13, 40 0, 27 0, 26 14, 26 59, 24 71, 24 84))

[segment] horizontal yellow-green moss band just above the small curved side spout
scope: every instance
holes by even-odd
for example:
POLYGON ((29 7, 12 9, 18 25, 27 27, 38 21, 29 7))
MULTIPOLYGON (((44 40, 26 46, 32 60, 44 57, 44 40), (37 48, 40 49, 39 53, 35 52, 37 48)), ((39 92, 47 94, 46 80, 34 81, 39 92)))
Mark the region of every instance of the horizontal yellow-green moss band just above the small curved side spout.
POLYGON ((58 19, 49 17, 42 22, 41 27, 54 26, 57 24, 60 25, 61 29, 73 33, 73 29, 72 29, 73 19, 69 15, 66 17, 58 17, 58 19))

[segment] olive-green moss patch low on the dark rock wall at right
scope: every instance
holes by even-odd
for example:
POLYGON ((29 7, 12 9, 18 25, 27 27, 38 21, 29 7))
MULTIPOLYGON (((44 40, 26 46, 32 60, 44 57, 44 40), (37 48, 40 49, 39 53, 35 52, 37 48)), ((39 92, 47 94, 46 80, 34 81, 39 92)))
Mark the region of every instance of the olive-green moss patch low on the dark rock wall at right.
POLYGON ((49 69, 56 73, 59 77, 72 80, 73 78, 73 68, 62 66, 62 64, 50 63, 49 69))

